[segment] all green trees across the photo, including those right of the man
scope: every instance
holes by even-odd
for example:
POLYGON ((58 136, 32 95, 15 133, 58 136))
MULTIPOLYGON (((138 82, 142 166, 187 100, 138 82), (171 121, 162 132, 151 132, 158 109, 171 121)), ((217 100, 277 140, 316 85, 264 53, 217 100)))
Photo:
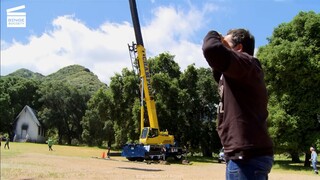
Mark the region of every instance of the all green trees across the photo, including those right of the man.
MULTIPOLYGON (((319 32, 320 15, 300 12, 276 27, 257 52, 269 93, 275 150, 293 161, 305 153, 305 163, 308 147, 320 147, 319 32)), ((148 59, 160 128, 193 152, 211 156, 221 148, 215 130, 217 84, 211 69, 192 64, 181 72, 174 58, 162 53, 148 59)), ((6 76, 0 82, 0 132, 12 132, 14 118, 28 104, 37 110, 47 135, 61 144, 121 148, 139 139, 140 87, 134 70, 125 68, 108 86, 93 89, 59 78, 6 76)))

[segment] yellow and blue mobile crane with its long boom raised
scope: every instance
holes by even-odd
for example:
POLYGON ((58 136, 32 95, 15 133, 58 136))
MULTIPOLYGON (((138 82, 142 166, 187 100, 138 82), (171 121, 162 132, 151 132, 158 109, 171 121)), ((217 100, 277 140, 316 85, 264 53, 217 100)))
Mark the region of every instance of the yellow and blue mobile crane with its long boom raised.
POLYGON ((129 45, 130 53, 134 54, 134 60, 137 61, 140 75, 140 94, 141 94, 141 118, 140 118, 140 139, 139 144, 126 144, 123 147, 121 155, 129 161, 160 160, 167 157, 182 159, 185 150, 176 146, 174 136, 169 135, 168 131, 160 131, 154 95, 151 86, 151 75, 146 58, 146 49, 143 45, 141 28, 138 18, 138 12, 135 0, 129 0, 131 17, 136 37, 136 44, 129 45), (136 57, 137 54, 137 58, 136 57), (147 109, 147 119, 149 127, 144 126, 145 107, 147 109))

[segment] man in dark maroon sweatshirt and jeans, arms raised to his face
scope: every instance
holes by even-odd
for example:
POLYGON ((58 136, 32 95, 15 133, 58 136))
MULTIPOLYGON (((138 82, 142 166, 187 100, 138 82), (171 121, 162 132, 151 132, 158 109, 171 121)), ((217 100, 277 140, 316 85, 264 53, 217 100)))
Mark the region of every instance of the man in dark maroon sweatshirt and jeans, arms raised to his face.
POLYGON ((209 31, 203 40, 203 55, 219 83, 217 131, 228 180, 266 180, 273 165, 267 90, 261 64, 253 57, 254 41, 245 29, 226 36, 209 31))

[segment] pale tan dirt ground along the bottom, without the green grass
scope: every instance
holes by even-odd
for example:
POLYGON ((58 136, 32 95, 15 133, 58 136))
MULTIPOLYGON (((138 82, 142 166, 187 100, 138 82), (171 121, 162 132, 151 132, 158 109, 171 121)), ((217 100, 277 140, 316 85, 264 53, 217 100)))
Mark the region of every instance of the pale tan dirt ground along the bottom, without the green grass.
MULTIPOLYGON (((27 153, 1 160, 1 179, 224 179, 225 164, 147 164, 122 157, 64 157, 27 153), (35 161, 37 159, 37 161, 35 161)), ((271 172, 269 179, 320 179, 320 176, 271 172)))

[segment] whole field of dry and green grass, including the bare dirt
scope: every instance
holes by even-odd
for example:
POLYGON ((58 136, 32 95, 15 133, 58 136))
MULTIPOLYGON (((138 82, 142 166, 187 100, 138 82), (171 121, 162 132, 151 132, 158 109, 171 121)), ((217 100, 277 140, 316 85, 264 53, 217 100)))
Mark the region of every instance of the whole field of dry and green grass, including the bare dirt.
MULTIPOLYGON (((1 146, 3 179, 224 179, 225 165, 214 158, 188 157, 192 165, 170 166, 128 162, 123 157, 102 160, 106 149, 46 144, 10 143, 1 146), (210 177, 210 178, 208 178, 210 177)), ((320 179, 311 167, 275 156, 270 179, 320 179)))

